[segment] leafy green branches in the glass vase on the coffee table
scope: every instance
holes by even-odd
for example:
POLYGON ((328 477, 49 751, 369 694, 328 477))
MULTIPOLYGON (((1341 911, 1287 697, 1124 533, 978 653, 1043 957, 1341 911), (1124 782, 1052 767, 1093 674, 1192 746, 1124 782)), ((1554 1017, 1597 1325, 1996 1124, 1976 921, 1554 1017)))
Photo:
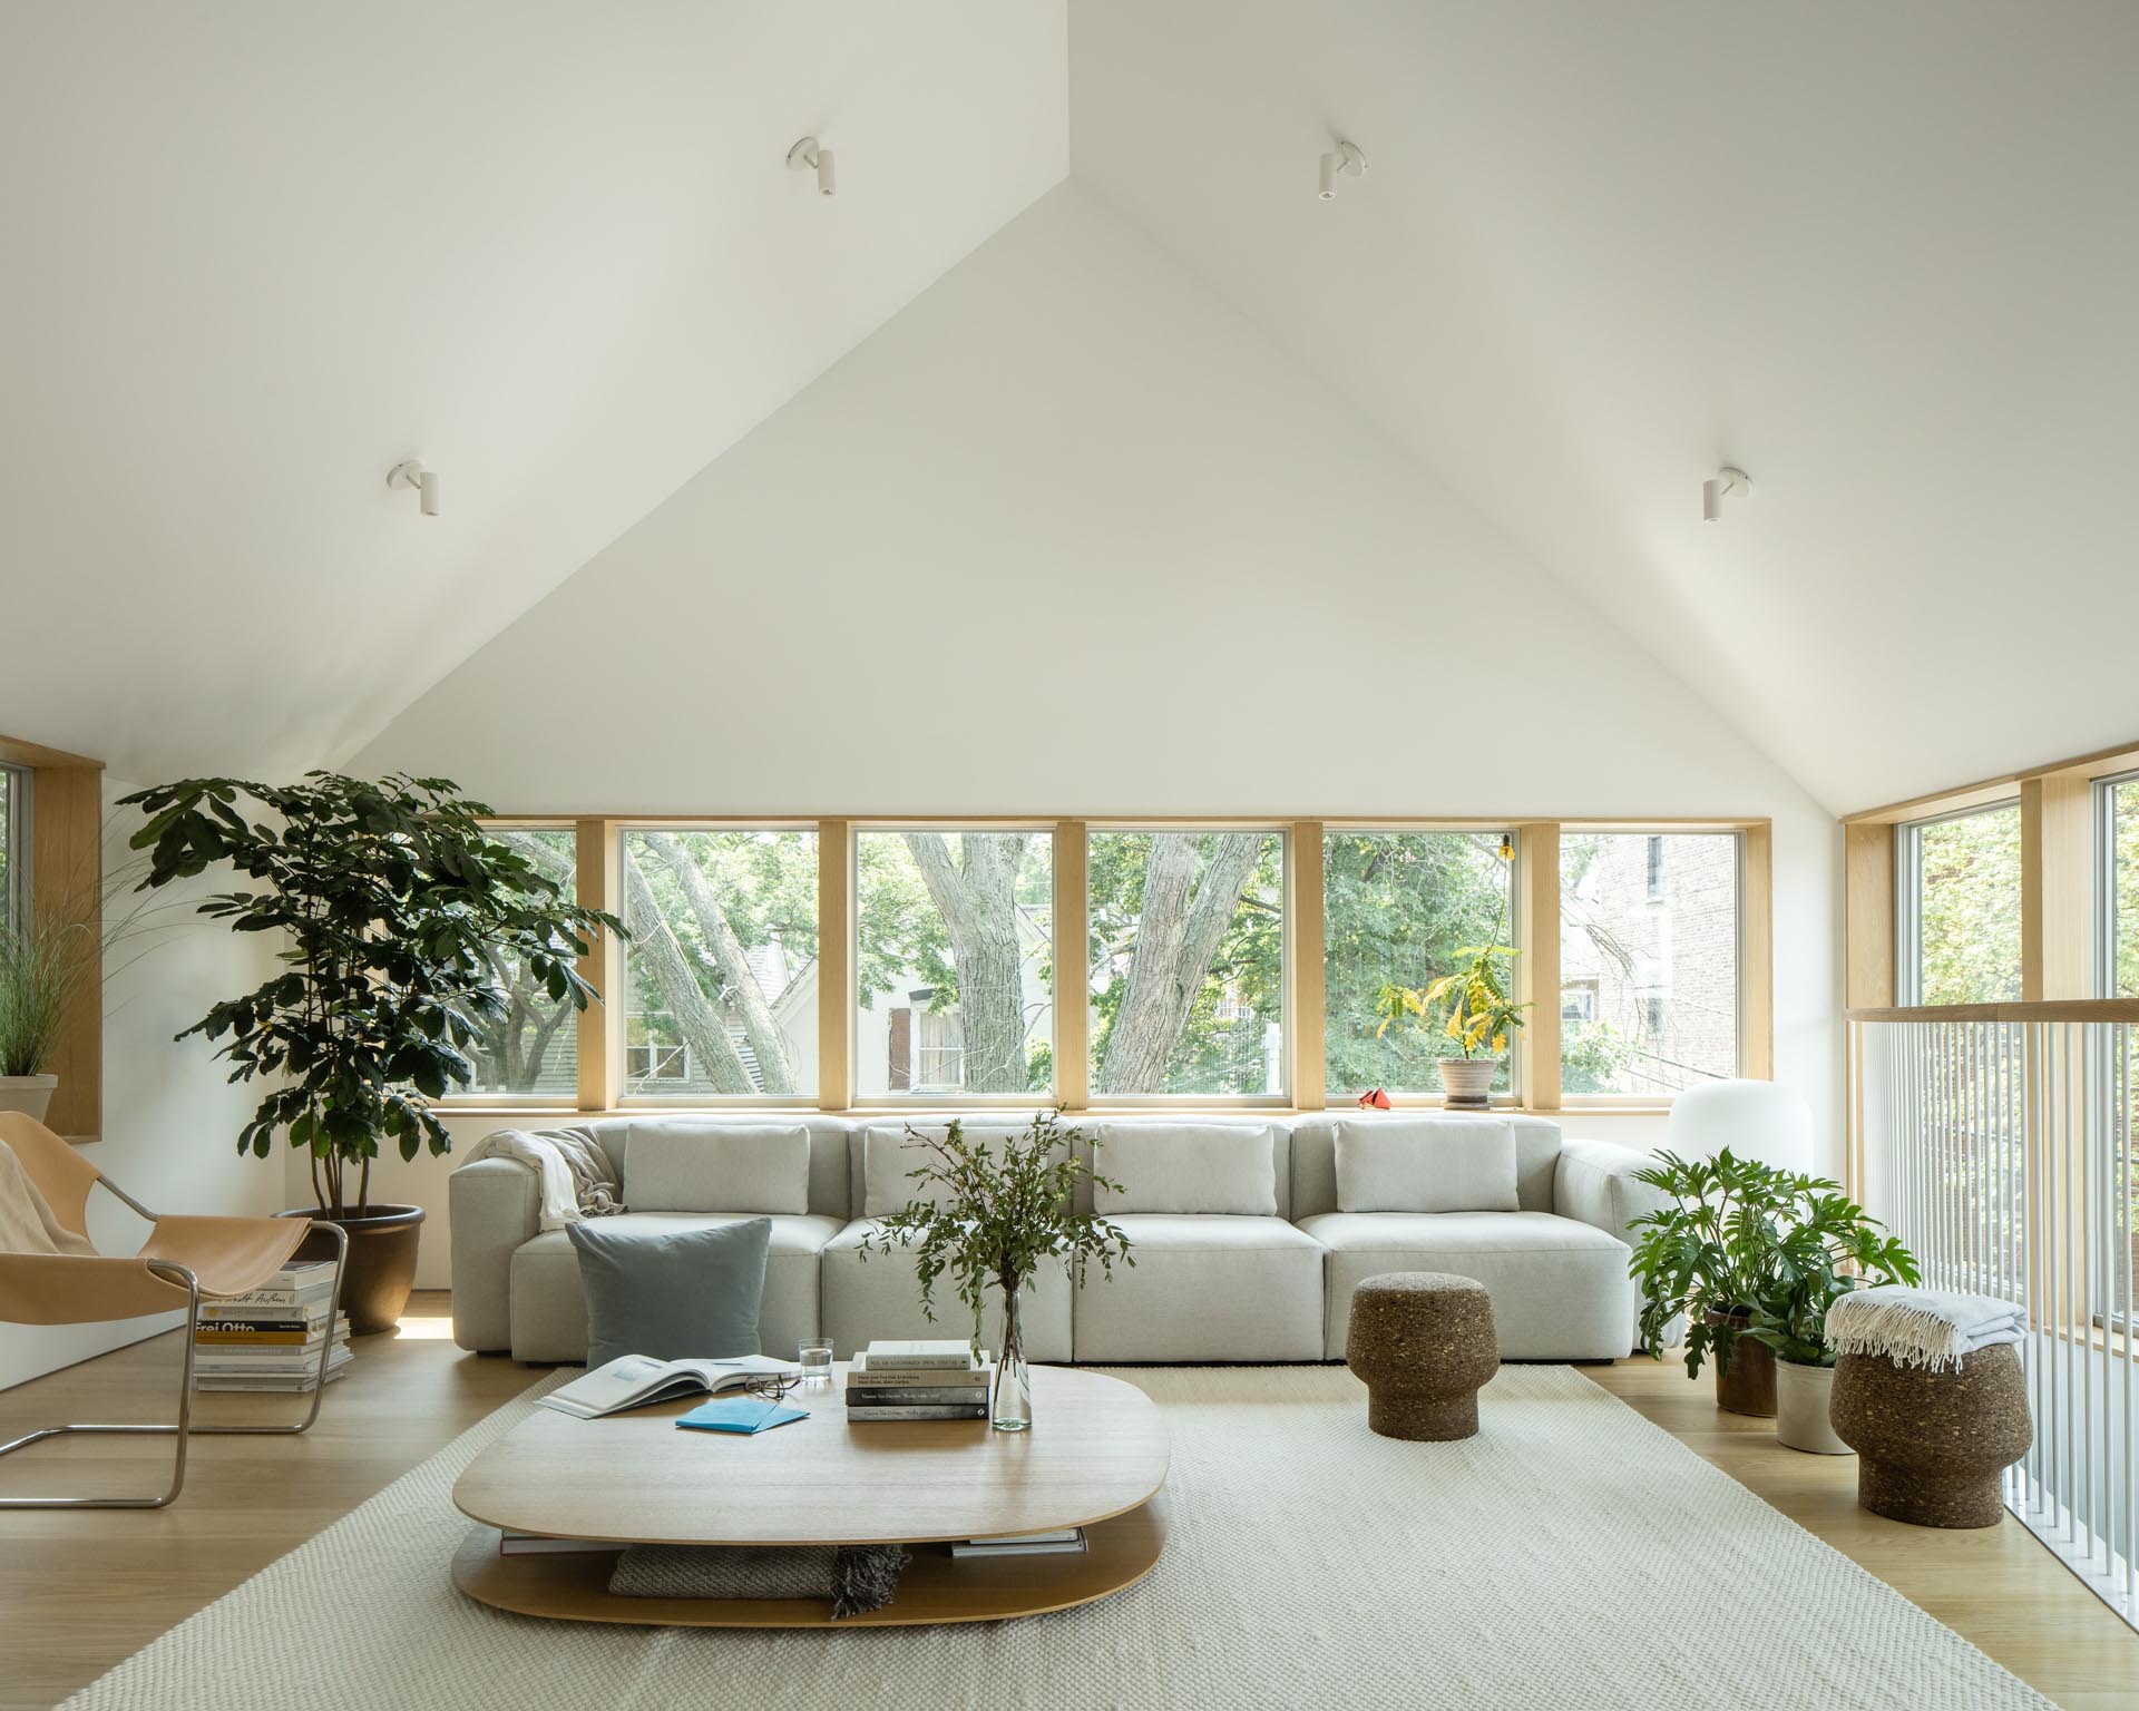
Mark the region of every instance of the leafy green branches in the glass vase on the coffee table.
MULTIPOLYGON (((1059 1112, 1033 1112, 1025 1134, 1003 1142, 967 1140, 958 1121, 941 1138, 909 1125, 907 1140, 922 1149, 920 1166, 907 1176, 930 1193, 879 1219, 862 1243, 862 1255, 866 1260, 871 1249, 911 1251, 922 1311, 930 1320, 935 1288, 948 1277, 973 1313, 975 1347, 988 1290, 1003 1292, 1007 1322, 1018 1292, 1048 1260, 1067 1260, 1078 1288, 1093 1264, 1106 1277, 1114 1275, 1114 1260, 1136 1264, 1119 1226, 1076 1211, 1078 1181, 1112 1193, 1121 1193, 1121 1183, 1076 1157, 1078 1129, 1065 1129, 1059 1112)), ((1005 1335, 1003 1354, 1012 1352, 1005 1335)))

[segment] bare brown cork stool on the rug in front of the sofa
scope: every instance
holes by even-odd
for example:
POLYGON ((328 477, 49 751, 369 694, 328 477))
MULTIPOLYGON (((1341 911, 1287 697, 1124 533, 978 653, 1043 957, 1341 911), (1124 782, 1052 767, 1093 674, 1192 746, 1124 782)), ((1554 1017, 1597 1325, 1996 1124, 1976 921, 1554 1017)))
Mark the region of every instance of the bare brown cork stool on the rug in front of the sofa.
POLYGON ((1352 1292, 1343 1365, 1365 1379, 1367 1424, 1382 1437, 1474 1437, 1478 1386, 1499 1371, 1493 1296, 1440 1270, 1369 1277, 1352 1292))

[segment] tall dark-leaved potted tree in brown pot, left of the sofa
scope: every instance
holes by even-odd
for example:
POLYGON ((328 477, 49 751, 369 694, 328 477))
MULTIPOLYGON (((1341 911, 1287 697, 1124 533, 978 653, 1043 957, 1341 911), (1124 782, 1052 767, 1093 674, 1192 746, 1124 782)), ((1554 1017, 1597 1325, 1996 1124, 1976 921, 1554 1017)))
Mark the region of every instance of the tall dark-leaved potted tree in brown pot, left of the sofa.
POLYGON ((349 1328, 391 1328, 415 1283, 424 1208, 372 1200, 381 1142, 402 1159, 451 1151, 430 1101, 473 1080, 468 1046, 507 1014, 494 956, 586 1009, 595 990, 575 958, 597 926, 620 922, 488 836, 490 811, 447 779, 184 779, 124 804, 148 815, 133 836, 150 862, 141 890, 231 868, 248 888, 199 913, 280 935, 282 967, 178 1037, 218 1042, 233 1082, 272 1082, 237 1151, 267 1157, 282 1134, 310 1155, 319 1204, 287 1217, 349 1232, 349 1328))

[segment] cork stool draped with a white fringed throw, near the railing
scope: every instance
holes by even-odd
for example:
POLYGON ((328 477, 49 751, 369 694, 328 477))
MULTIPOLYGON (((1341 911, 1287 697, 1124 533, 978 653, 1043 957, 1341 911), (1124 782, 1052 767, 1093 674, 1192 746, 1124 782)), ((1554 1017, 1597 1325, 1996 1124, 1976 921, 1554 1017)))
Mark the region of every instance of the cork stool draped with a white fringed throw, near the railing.
POLYGON ((1917 1527, 1998 1525, 1998 1476, 2034 1442, 2013 1343, 1976 1350, 1949 1371, 1844 1354, 1829 1418, 1857 1450, 1857 1501, 1917 1527))

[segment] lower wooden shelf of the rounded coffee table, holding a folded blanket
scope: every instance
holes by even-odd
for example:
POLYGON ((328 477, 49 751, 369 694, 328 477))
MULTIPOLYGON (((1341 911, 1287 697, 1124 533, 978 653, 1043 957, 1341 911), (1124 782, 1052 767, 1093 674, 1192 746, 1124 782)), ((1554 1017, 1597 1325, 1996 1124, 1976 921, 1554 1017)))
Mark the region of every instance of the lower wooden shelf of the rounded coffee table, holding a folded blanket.
POLYGON ((898 1600, 832 1621, 821 1598, 616 1598, 614 1551, 498 1555, 498 1529, 475 1527, 453 1553, 453 1585, 479 1604, 556 1621, 620 1621, 640 1628, 911 1628, 933 1621, 1003 1621, 1067 1610, 1134 1587, 1166 1548, 1166 1493, 1140 1510, 1084 1529, 1074 1557, 967 1557, 915 1544, 898 1600))

